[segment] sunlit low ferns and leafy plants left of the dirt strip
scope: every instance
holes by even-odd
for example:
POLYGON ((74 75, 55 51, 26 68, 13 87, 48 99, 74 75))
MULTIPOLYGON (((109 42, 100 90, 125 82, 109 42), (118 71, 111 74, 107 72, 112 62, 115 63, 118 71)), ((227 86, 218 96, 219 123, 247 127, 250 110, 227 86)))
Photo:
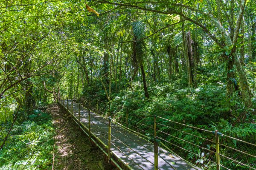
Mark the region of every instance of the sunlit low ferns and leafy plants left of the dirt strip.
POLYGON ((54 134, 50 115, 40 110, 33 111, 26 121, 14 125, 8 141, 0 150, 0 169, 51 169, 54 134))

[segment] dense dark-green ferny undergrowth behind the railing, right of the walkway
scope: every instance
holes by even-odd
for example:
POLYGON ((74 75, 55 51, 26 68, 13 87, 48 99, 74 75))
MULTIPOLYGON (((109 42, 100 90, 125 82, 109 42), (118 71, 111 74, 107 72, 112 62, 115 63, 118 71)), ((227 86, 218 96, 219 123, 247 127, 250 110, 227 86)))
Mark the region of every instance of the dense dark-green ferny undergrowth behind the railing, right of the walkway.
MULTIPOLYGON (((203 79, 204 77, 199 78, 203 79)), ((212 82, 215 77, 210 76, 209 79, 212 82)), ((172 83, 148 82, 148 92, 150 94, 148 100, 145 99, 142 82, 135 81, 121 91, 112 92, 111 116, 125 125, 126 112, 129 108, 128 127, 148 136, 148 140, 151 140, 154 134, 154 118, 148 116, 148 114, 155 114, 165 119, 201 129, 218 130, 225 135, 254 144, 256 141, 255 110, 244 107, 239 92, 235 92, 230 99, 227 99, 226 87, 222 82, 207 83, 206 80, 205 82, 205 84, 198 85, 198 88, 186 88, 182 78, 172 83)), ((113 85, 113 89, 114 87, 113 85)), ((104 90, 84 90, 83 101, 85 105, 88 105, 90 101, 91 106, 96 106, 95 100, 86 97, 108 102, 104 90)), ((253 108, 256 108, 255 101, 253 99, 253 108)), ((107 115, 108 104, 99 102, 99 111, 107 115)), ((167 141, 162 140, 162 142, 192 163, 204 169, 215 170, 216 166, 211 162, 215 161, 215 134, 195 130, 165 119, 157 118, 157 129, 160 130, 157 132, 157 136, 167 141), (180 149, 180 147, 185 150, 180 149)), ((220 143, 251 155, 256 154, 255 147, 234 139, 221 136, 220 143)), ((227 147, 221 146, 220 150, 221 154, 232 159, 244 163, 256 162, 255 158, 234 152, 234 150, 227 147)), ((246 166, 236 165, 226 158, 221 158, 221 164, 231 170, 248 169, 246 166)))

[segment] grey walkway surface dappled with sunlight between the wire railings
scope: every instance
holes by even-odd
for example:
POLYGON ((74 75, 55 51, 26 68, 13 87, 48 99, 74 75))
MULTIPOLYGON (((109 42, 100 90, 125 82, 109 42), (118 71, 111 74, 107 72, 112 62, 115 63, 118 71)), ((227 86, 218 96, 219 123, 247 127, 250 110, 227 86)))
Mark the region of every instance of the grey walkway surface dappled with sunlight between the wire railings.
MULTIPOLYGON (((62 101, 67 108, 67 100, 62 101)), ((71 111, 71 100, 68 100, 68 110, 71 111)), ((73 102, 73 115, 77 121, 79 105, 73 102)), ((90 112, 90 127, 94 137, 108 145, 108 119, 93 111, 90 112)), ((88 127, 88 111, 81 107, 80 123, 88 127)), ((129 132, 125 128, 114 123, 111 124, 111 152, 112 157, 125 169, 154 170, 154 144, 129 132)), ((105 148, 106 149, 106 148, 105 148)), ((158 147, 158 169, 159 170, 201 170, 189 162, 184 161, 175 153, 170 153, 158 147)))

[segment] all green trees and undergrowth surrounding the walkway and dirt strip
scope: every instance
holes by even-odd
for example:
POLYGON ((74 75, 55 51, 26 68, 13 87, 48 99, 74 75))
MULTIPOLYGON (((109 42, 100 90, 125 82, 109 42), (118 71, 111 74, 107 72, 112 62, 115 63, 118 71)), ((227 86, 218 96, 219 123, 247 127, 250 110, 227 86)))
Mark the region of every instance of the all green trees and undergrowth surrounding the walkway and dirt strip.
MULTIPOLYGON (((0 1, 0 168, 49 168, 53 131, 37 109, 61 94, 94 109, 90 98, 110 103, 110 113, 103 102, 99 110, 119 122, 129 108, 131 128, 148 136, 153 118, 143 113, 255 144, 255 9, 255 0, 0 1)), ((207 160, 214 153, 201 149, 214 143, 196 137, 213 134, 159 123, 172 135, 160 137, 189 152, 165 143, 170 149, 215 169, 207 160)), ((220 140, 256 155, 249 144, 220 140)), ((227 147, 221 154, 256 162, 227 147)), ((221 164, 249 169, 225 158, 221 164)))

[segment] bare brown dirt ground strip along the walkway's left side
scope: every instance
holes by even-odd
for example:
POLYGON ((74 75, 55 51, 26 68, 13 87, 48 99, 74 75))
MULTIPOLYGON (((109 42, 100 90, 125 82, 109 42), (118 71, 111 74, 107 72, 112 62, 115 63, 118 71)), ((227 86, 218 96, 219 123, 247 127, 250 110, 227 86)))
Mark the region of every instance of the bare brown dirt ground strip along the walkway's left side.
POLYGON ((100 170, 100 150, 89 150, 88 137, 82 133, 70 116, 62 112, 57 104, 48 105, 55 127, 55 170, 100 170))

